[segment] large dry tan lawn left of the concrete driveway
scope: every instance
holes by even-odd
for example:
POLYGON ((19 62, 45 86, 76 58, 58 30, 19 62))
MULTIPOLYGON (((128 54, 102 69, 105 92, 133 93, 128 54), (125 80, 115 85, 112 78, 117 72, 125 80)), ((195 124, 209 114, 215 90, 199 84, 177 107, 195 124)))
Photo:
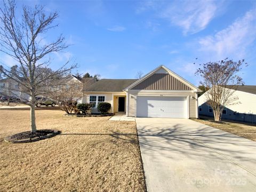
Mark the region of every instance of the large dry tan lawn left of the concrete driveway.
POLYGON ((0 117, 0 191, 145 191, 134 122, 37 110, 37 129, 62 133, 13 144, 4 137, 29 130, 29 110, 0 117))

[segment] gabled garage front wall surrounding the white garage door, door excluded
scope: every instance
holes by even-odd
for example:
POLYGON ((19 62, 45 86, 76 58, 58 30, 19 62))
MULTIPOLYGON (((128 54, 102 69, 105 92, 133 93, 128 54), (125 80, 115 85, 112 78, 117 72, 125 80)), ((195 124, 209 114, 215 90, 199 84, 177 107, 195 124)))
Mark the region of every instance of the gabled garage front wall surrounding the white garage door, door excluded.
POLYGON ((137 84, 127 87, 125 91, 129 95, 127 99, 129 110, 126 115, 136 116, 137 96, 179 96, 187 98, 188 118, 197 118, 197 92, 200 90, 185 79, 173 74, 167 68, 161 66, 153 73, 149 73, 148 77, 142 77, 137 84))

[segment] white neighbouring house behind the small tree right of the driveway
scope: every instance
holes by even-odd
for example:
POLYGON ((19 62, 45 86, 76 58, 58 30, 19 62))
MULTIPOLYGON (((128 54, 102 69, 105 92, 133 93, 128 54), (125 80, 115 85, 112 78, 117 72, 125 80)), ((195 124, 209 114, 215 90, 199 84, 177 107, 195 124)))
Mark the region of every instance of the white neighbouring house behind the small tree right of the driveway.
MULTIPOLYGON (((234 90, 233 86, 232 89, 234 90)), ((207 92, 198 98, 199 115, 213 116, 213 110, 207 105, 205 94, 207 92)), ((256 122, 256 85, 237 86, 230 100, 233 102, 223 109, 222 119, 256 122)))

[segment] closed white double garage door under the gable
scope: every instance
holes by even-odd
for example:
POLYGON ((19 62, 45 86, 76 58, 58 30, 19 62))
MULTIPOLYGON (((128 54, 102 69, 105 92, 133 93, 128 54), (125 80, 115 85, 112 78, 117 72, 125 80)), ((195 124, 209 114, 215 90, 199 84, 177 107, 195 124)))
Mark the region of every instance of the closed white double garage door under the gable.
POLYGON ((137 97, 137 117, 187 118, 186 97, 137 97))

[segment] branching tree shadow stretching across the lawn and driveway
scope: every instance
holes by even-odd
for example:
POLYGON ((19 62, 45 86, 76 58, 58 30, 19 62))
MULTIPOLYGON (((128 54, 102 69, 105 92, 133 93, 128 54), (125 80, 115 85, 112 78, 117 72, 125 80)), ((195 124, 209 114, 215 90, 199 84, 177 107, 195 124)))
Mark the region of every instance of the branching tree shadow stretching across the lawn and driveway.
MULTIPOLYGON (((253 141, 248 142, 248 140, 244 138, 241 139, 237 135, 207 125, 202 124, 196 125, 195 127, 195 125, 192 124, 187 125, 186 129, 184 129, 183 124, 166 124, 159 128, 155 126, 150 127, 150 125, 137 125, 137 130, 141 151, 145 154, 150 154, 153 159, 159 155, 176 159, 177 161, 179 161, 180 155, 188 158, 216 158, 216 153, 205 146, 204 143, 206 143, 206 145, 210 145, 214 150, 220 150, 221 153, 230 153, 233 154, 233 157, 237 157, 242 161, 251 161, 256 164, 256 159, 248 159, 245 156, 241 156, 241 154, 244 153, 252 157, 256 154, 254 149, 255 143, 253 141), (236 149, 230 147, 230 145, 243 146, 244 148, 236 149), (172 153, 166 153, 167 151, 172 151, 172 153), (178 155, 173 156, 173 152, 178 155)), ((110 132, 111 133, 61 133, 60 135, 106 135, 116 140, 123 140, 125 143, 136 145, 138 143, 136 133, 110 132)), ((117 145, 116 140, 111 140, 110 142, 117 145)))

